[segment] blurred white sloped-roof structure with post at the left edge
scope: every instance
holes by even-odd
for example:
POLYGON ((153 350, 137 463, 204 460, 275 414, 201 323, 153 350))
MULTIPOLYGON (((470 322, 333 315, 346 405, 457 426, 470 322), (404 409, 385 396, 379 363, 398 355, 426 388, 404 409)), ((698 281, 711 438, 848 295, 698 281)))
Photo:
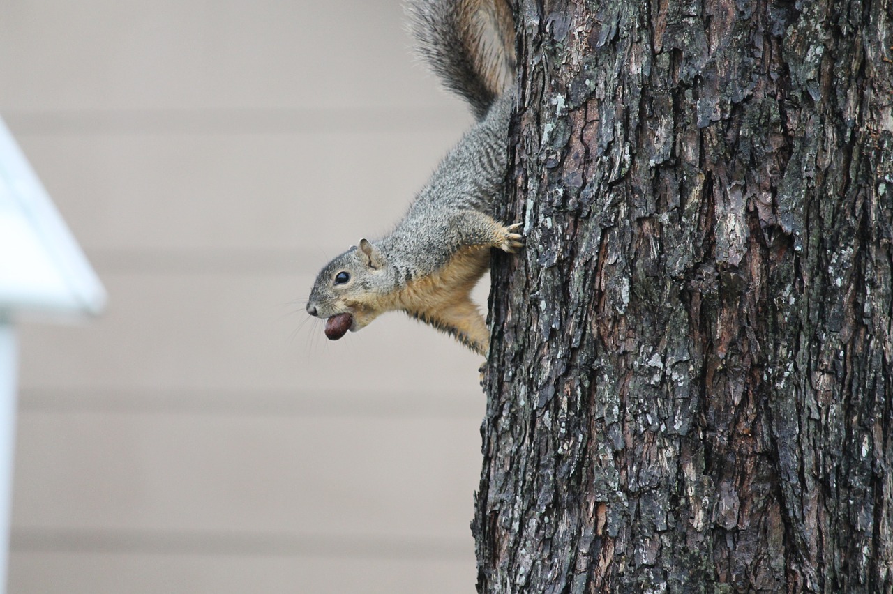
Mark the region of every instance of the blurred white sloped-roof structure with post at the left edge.
POLYGON ((22 314, 95 315, 96 273, 0 120, 0 593, 6 591, 15 443, 16 342, 22 314))

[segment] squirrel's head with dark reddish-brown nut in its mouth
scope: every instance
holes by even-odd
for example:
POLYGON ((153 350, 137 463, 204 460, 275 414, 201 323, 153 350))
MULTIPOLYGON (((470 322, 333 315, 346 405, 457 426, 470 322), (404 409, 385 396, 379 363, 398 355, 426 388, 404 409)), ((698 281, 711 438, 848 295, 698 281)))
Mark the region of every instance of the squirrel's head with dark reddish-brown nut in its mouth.
POLYGON ((356 332, 384 311, 382 298, 393 282, 388 261, 366 239, 331 260, 316 276, 307 313, 326 319, 326 336, 338 340, 356 332))

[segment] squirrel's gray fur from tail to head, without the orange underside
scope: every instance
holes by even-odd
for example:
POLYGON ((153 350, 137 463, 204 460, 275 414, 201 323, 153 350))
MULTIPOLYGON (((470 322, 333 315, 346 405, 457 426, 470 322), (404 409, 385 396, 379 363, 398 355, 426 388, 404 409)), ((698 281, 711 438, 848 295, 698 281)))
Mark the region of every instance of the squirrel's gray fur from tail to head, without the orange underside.
POLYGON ((393 232, 370 243, 362 240, 320 271, 307 311, 320 318, 351 313, 351 330, 382 313, 387 300, 376 296, 396 294, 438 272, 463 246, 511 251, 518 244, 494 243, 503 226, 493 218, 494 204, 505 193, 513 107, 507 81, 514 57, 505 40, 511 12, 505 0, 414 0, 410 11, 421 54, 447 87, 469 101, 480 121, 440 161, 393 232), (339 272, 349 273, 349 282, 338 284, 339 272))

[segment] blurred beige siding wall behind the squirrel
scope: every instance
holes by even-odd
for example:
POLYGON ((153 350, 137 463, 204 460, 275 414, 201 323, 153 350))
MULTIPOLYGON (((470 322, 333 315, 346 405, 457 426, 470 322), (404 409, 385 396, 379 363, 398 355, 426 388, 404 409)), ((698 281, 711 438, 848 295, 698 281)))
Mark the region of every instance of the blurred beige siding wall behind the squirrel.
POLYGON ((303 302, 471 122, 404 23, 0 1, 0 114, 109 292, 20 326, 10 592, 473 590, 480 357, 401 314, 328 342, 303 302))

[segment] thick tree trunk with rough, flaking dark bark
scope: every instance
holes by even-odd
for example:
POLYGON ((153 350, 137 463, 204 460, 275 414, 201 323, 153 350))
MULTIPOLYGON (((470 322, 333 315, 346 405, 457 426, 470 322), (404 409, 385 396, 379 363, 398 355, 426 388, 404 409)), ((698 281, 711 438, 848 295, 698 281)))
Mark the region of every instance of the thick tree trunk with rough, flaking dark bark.
POLYGON ((893 590, 893 0, 521 0, 480 592, 893 590))

